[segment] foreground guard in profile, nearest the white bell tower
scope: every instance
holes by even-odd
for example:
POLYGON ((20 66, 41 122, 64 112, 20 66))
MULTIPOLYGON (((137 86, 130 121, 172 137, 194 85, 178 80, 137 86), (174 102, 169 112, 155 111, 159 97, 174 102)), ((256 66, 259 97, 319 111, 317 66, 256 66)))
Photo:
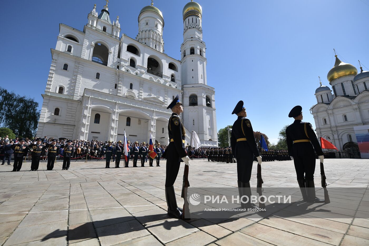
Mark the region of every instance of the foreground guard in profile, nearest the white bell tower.
POLYGON ((174 192, 174 182, 176 181, 181 161, 186 165, 190 164, 190 158, 184 150, 184 130, 179 114, 183 112, 182 103, 177 95, 169 104, 167 109, 172 109, 172 116, 168 122, 169 145, 165 150, 166 158, 166 178, 165 178, 165 198, 168 205, 168 215, 182 219, 182 209, 178 208, 176 194, 174 192))

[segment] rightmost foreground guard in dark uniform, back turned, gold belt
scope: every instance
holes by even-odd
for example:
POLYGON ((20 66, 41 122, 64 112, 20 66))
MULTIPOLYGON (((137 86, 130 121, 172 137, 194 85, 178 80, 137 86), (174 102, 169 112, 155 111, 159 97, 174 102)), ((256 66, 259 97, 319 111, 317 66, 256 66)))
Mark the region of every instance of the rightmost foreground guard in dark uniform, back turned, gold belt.
POLYGON ((299 183, 303 199, 309 202, 324 202, 324 200, 315 197, 314 149, 322 163, 324 156, 313 126, 308 122, 302 122, 303 116, 301 106, 295 106, 288 117, 293 117, 295 119, 295 121, 286 128, 286 140, 288 153, 295 165, 297 182, 299 183))

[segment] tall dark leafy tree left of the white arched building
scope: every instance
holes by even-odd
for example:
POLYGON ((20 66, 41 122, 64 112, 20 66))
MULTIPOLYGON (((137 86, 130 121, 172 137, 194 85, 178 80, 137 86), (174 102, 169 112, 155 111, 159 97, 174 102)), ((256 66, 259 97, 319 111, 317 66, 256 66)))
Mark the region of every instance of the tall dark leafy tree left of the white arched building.
POLYGON ((34 98, 16 95, 0 87, 0 125, 10 128, 15 136, 34 137, 40 116, 34 98))

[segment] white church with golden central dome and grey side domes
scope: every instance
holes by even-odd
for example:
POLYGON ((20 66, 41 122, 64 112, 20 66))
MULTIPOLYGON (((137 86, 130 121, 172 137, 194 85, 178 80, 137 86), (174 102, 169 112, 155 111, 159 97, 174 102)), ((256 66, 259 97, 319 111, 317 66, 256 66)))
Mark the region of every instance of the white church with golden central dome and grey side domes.
MULTIPOLYGON (((328 86, 315 90, 317 104, 311 107, 318 137, 334 144, 342 155, 360 157, 356 129, 369 125, 369 71, 358 70, 335 55, 334 67, 328 72, 328 86), (354 129, 355 128, 355 129, 354 129)), ((337 154, 338 156, 338 154, 337 154)))

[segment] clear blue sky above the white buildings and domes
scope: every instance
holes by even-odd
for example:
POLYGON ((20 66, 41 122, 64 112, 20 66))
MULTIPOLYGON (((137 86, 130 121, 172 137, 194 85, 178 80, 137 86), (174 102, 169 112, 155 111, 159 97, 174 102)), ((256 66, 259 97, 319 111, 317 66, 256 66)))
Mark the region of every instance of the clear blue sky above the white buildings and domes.
MULTIPOLYGON (((164 16, 165 53, 176 59, 187 2, 154 0, 164 16)), ((277 142, 279 130, 293 122, 288 118, 293 106, 301 105, 304 121, 315 125, 309 109, 316 103, 318 76, 329 86, 333 48, 342 61, 358 68, 359 59, 369 67, 369 0, 197 2, 203 8, 207 83, 215 88, 218 130, 233 124, 231 112, 243 100, 254 130, 277 142)), ((41 105, 59 23, 83 30, 94 3, 100 12, 105 1, 4 2, 0 86, 41 105)), ((110 0, 111 20, 120 16, 121 33, 135 38, 139 11, 150 3, 110 0)))

